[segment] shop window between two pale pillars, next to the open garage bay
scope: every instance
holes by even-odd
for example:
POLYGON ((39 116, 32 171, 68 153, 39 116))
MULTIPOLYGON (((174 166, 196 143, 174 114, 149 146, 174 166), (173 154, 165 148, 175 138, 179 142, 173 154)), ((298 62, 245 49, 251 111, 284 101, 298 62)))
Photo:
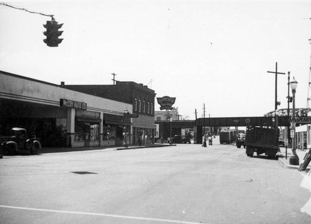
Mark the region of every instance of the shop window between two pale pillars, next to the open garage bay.
POLYGON ((92 122, 75 122, 75 141, 99 140, 99 124, 92 122))

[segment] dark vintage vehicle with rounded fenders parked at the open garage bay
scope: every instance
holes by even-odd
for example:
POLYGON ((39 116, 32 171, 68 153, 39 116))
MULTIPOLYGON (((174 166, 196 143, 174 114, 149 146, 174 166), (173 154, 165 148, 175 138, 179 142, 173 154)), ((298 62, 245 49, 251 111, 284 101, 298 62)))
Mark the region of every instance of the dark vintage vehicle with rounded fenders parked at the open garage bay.
POLYGON ((35 135, 27 136, 24 128, 13 127, 10 136, 0 138, 0 148, 2 154, 31 153, 37 154, 42 149, 39 139, 35 135))

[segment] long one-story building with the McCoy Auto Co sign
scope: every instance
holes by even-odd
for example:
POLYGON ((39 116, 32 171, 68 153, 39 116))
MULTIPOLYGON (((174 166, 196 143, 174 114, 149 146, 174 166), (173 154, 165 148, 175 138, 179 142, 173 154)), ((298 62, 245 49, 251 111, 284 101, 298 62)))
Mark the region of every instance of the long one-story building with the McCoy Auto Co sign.
POLYGON ((0 135, 23 127, 43 147, 118 146, 131 130, 132 104, 0 71, 0 135))

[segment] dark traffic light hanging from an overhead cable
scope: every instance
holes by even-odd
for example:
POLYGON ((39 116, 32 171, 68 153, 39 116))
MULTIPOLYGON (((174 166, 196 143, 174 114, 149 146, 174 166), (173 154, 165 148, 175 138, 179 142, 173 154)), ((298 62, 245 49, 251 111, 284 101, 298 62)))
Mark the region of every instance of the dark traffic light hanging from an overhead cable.
POLYGON ((64 32, 58 30, 59 28, 62 28, 63 24, 58 24, 53 19, 54 18, 52 18, 52 21, 46 21, 46 24, 43 25, 44 28, 46 28, 46 31, 43 32, 46 39, 43 41, 48 47, 58 47, 58 45, 63 41, 63 39, 58 38, 64 32))

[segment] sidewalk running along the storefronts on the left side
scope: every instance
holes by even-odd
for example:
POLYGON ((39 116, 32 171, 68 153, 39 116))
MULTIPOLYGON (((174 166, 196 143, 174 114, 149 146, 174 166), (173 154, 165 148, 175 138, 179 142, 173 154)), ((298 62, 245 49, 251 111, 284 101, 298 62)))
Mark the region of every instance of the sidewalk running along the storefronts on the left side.
POLYGON ((131 145, 127 148, 122 146, 95 146, 95 147, 77 147, 77 148, 42 148, 39 150, 39 154, 44 153, 57 153, 57 152, 72 152, 72 151, 88 151, 88 150, 124 150, 124 149, 143 149, 143 148, 155 148, 155 147, 168 147, 168 146, 176 146, 169 144, 151 144, 148 146, 136 146, 131 145))

